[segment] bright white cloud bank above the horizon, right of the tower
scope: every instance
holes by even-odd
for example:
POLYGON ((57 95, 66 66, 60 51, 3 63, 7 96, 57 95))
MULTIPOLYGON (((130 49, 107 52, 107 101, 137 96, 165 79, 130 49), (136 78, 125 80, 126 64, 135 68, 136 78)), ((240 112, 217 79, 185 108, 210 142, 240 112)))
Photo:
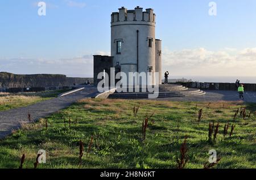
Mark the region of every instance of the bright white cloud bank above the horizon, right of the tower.
POLYGON ((163 72, 174 76, 256 76, 256 48, 163 50, 163 72))

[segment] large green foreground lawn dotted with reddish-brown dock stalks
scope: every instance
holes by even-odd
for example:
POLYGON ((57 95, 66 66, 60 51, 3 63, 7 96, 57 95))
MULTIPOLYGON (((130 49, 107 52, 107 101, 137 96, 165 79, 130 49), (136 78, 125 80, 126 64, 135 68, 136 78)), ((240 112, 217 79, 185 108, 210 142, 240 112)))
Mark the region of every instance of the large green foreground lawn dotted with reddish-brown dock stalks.
POLYGON ((255 110, 256 104, 241 102, 84 99, 37 123, 23 124, 0 141, 0 168, 18 168, 22 154, 23 168, 34 168, 39 149, 46 150, 47 162, 38 168, 176 168, 185 136, 188 162, 184 168, 204 168, 210 149, 221 157, 213 168, 256 168, 255 110), (250 117, 244 120, 239 113, 233 120, 241 107, 246 107, 247 115, 251 111, 250 117), (198 122, 201 108, 203 118, 198 122), (142 140, 143 120, 153 113, 142 140), (209 141, 209 121, 213 120, 220 123, 219 133, 209 141), (84 143, 81 165, 80 140, 84 143))

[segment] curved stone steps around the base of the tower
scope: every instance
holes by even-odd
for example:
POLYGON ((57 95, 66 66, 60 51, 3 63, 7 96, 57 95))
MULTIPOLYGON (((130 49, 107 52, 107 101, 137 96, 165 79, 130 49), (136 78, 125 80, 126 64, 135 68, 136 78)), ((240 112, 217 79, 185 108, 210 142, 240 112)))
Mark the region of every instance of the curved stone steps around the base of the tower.
MULTIPOLYGON (((135 90, 133 90, 135 92, 135 90)), ((148 92, 147 89, 139 88, 139 93, 115 93, 110 94, 110 99, 147 99, 148 92)), ((159 85, 159 95, 158 98, 172 98, 172 97, 187 97, 187 96, 197 96, 204 95, 205 92, 200 89, 187 88, 181 85, 159 85)))

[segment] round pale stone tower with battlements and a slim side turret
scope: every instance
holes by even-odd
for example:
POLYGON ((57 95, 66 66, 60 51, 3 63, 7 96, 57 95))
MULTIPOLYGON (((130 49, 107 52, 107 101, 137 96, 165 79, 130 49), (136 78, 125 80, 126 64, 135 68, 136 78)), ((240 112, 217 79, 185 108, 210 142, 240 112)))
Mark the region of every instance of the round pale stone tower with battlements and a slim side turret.
MULTIPOLYGON (((111 15, 111 56, 121 72, 159 72, 162 83, 161 41, 155 39, 155 14, 152 9, 125 7, 111 15), (156 48, 157 47, 157 48, 156 48), (156 54, 157 53, 157 54, 156 54), (157 63, 157 65, 156 65, 157 63), (158 64, 160 63, 160 64, 158 64)), ((155 79, 152 77, 152 84, 155 79)))

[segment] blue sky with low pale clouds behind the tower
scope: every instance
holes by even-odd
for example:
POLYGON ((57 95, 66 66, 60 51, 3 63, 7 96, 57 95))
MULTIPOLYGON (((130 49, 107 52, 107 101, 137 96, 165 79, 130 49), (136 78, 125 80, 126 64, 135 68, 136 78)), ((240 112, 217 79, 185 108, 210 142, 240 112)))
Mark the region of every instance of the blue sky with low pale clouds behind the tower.
POLYGON ((0 1, 0 72, 93 77, 93 55, 110 55, 110 14, 141 6, 156 14, 163 72, 256 83, 255 0, 215 0, 216 16, 207 0, 45 0, 46 16, 38 2, 0 1))

